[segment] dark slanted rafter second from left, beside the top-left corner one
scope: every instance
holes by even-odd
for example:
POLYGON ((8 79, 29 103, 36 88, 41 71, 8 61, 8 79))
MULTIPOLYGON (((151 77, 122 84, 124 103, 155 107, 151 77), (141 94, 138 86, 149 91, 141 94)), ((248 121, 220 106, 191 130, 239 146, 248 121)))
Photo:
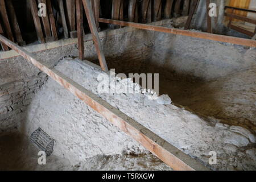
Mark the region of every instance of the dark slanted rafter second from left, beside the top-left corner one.
POLYGON ((6 1, 6 5, 9 10, 10 22, 13 26, 16 42, 18 42, 19 46, 25 46, 26 42, 24 42, 22 39, 22 34, 20 32, 19 23, 18 23, 16 14, 14 11, 14 7, 13 7, 13 1, 12 0, 6 1))

